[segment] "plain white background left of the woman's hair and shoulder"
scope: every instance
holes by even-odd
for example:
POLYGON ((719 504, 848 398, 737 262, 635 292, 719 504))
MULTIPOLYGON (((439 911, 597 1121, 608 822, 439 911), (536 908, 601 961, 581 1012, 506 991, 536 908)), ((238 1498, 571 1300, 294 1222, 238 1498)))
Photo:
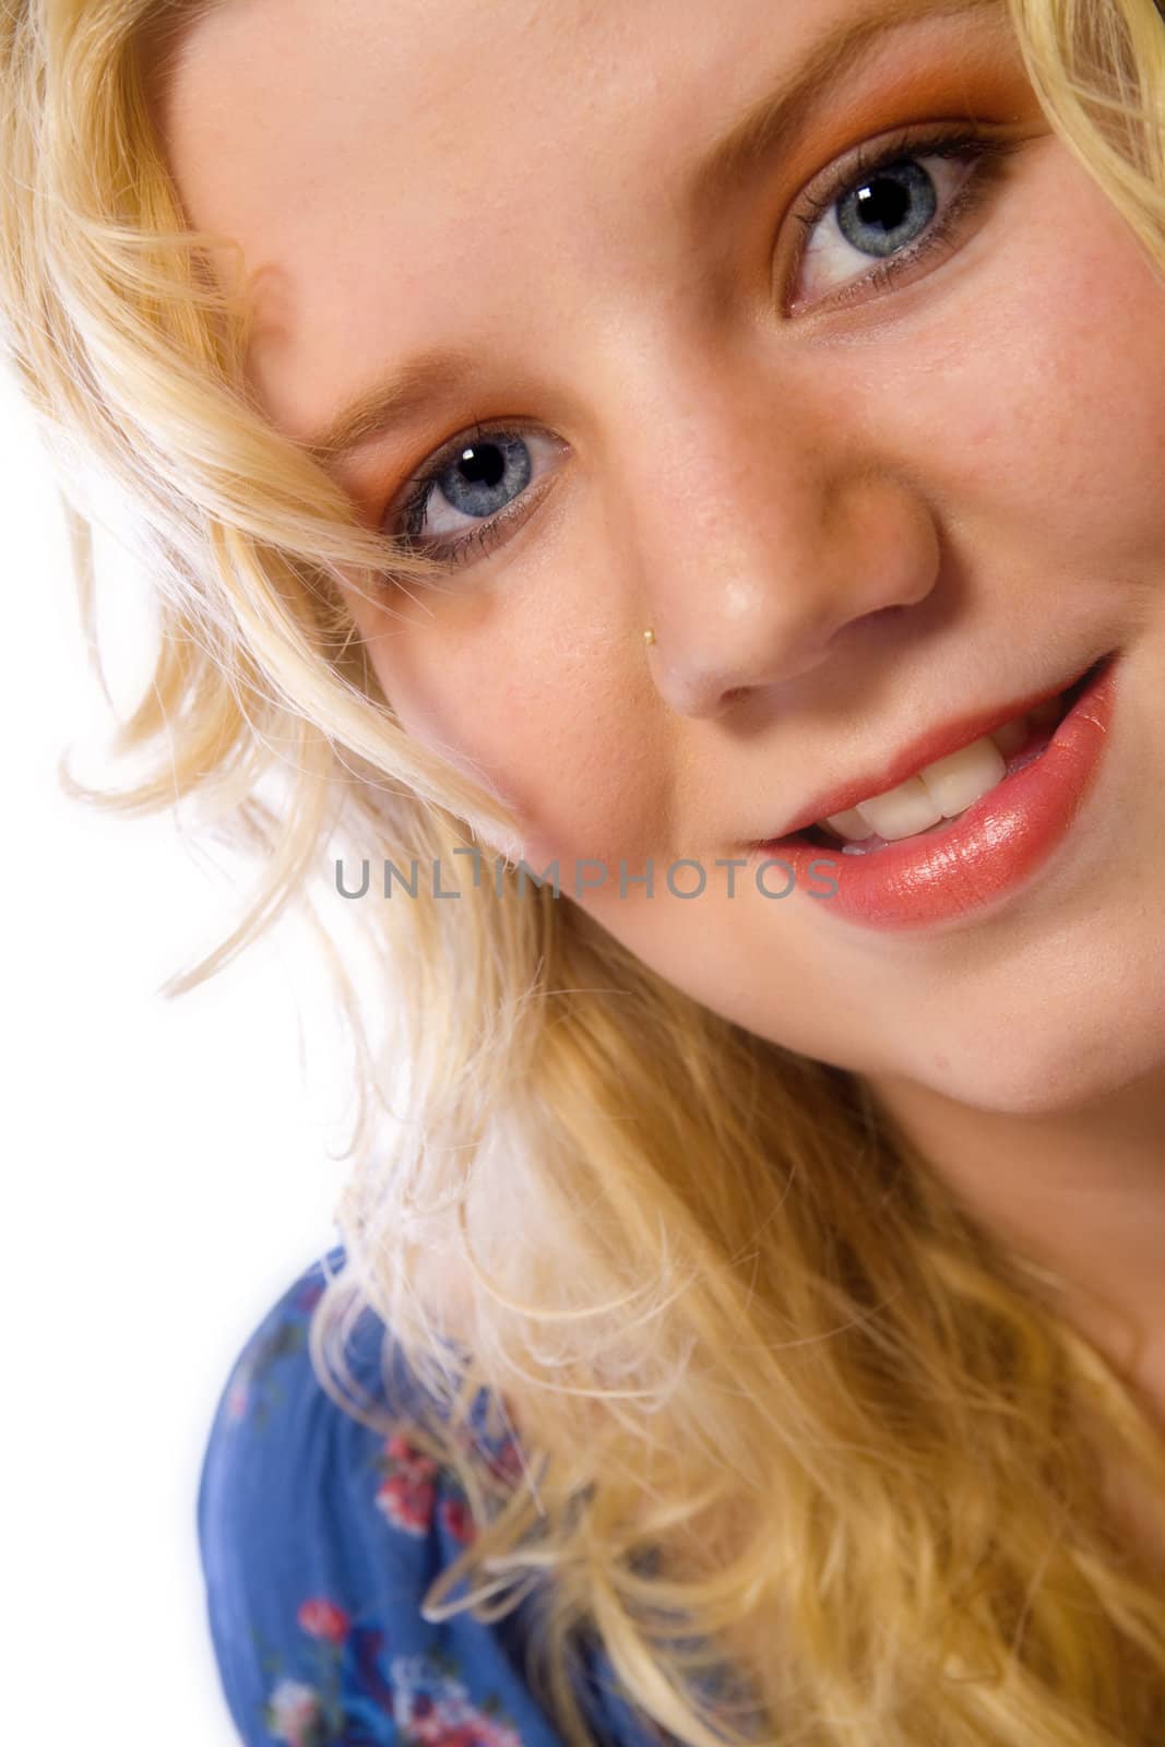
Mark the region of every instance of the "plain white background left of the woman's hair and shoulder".
MULTIPOLYGON (((0 510, 3 1735, 238 1747, 197 1562, 199 1464, 246 1335, 335 1242, 337 1111, 311 1057, 307 1078, 299 1066, 295 938, 161 998, 238 919, 243 882, 173 819, 103 816, 58 788, 73 742, 80 777, 122 776, 93 756, 108 718, 7 367, 0 510)), ((133 554, 100 554, 103 622, 122 636, 124 599, 129 648, 133 554)))

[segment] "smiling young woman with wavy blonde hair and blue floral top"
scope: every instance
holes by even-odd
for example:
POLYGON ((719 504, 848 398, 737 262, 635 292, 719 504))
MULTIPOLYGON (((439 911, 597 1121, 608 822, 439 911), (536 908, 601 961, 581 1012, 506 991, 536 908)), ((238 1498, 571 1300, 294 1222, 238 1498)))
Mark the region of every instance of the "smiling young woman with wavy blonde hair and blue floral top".
POLYGON ((245 1740, 1165 1740, 1156 7, 2 19, 10 356, 157 571, 110 798, 265 858, 175 989, 344 943, 245 1740))

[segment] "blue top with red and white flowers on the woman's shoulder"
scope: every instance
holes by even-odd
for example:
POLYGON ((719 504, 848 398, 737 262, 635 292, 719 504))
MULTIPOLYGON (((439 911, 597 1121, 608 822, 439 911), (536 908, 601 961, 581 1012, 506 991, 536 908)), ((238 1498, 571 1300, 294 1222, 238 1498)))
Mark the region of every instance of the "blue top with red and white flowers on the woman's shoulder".
MULTIPOLYGON (((342 1263, 342 1247, 328 1253, 330 1274, 342 1263)), ((320 1387, 307 1322, 325 1279, 313 1263, 250 1336, 203 1457, 199 1550, 239 1738, 246 1747, 562 1747, 524 1677, 536 1595, 489 1625, 470 1612, 421 1618, 424 1592, 473 1525, 452 1471, 407 1438, 363 1426, 320 1387)), ((363 1317, 356 1333, 370 1322, 374 1338, 362 1347, 353 1336, 348 1361, 384 1399, 384 1324, 372 1310, 363 1317)), ((400 1387, 417 1387, 403 1364, 400 1387)), ((512 1436, 480 1436, 491 1459, 520 1474, 512 1436)), ((596 1742, 671 1740, 632 1717, 594 1640, 580 1670, 596 1742)))

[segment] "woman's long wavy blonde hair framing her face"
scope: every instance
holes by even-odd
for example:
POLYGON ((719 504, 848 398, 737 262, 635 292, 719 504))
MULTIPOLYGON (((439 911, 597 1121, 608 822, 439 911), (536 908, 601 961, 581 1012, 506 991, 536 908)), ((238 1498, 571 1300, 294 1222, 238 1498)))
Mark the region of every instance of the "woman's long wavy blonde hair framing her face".
MULTIPOLYGON (((1165 267, 1155 5, 1006 3, 1050 122, 1165 267)), ((112 741, 147 772, 72 791, 204 804, 262 858, 245 917, 168 992, 292 903, 328 954, 360 1104, 349 1263, 311 1354, 348 1412, 465 1488, 477 1534, 424 1616, 538 1593, 529 1675, 576 1747, 583 1633, 692 1747, 1165 1740, 1165 1595, 1113 1534, 1079 1426, 1165 1497, 1160 1433, 1055 1279, 968 1218, 854 1076, 709 1013, 505 856, 472 901, 344 912, 391 991, 372 1043, 309 898, 325 847, 452 868, 514 821, 395 722, 339 583, 426 568, 271 428, 246 299, 218 276, 241 252, 183 225, 154 100, 206 9, 5 0, 0 309, 91 638, 89 468, 155 583, 157 666, 112 741), (435 1403, 407 1427, 355 1389, 363 1307, 435 1403), (482 1387, 534 1427, 519 1481, 480 1460, 482 1387), (449 1602, 463 1579, 480 1593, 449 1602)))

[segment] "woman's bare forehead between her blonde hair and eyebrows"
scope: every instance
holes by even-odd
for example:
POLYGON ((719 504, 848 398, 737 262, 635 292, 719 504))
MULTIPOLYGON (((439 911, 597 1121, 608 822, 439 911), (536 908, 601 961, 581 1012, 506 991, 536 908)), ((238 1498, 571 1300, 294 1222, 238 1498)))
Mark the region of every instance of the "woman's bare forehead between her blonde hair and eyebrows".
POLYGON ((190 222, 245 248, 257 386, 306 437, 393 356, 496 351, 501 318, 555 346, 575 304, 618 321, 631 276, 692 273, 681 190, 706 148, 837 31, 891 56, 884 93, 926 77, 927 38, 990 16, 1003 5, 222 0, 187 31, 161 121, 190 222))

